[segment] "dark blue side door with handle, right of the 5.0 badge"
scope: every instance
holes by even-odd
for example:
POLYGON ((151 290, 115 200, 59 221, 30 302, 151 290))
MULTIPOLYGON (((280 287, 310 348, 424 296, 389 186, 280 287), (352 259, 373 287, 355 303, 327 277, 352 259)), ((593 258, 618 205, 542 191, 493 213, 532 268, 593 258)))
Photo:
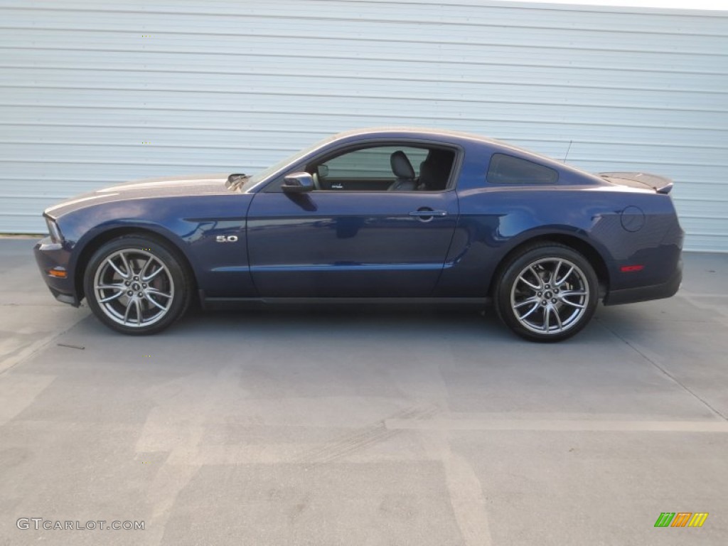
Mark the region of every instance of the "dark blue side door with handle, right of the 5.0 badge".
MULTIPOLYGON (((375 157, 376 154, 372 154, 375 157)), ((248 258, 266 298, 427 297, 454 233, 455 191, 386 191, 381 165, 335 172, 303 194, 261 191, 248 210, 248 258), (367 181, 373 189, 367 188, 367 181), (336 186, 342 186, 336 188, 336 186), (348 188, 347 188, 348 186, 348 188), (376 188, 376 189, 375 189, 376 188)))

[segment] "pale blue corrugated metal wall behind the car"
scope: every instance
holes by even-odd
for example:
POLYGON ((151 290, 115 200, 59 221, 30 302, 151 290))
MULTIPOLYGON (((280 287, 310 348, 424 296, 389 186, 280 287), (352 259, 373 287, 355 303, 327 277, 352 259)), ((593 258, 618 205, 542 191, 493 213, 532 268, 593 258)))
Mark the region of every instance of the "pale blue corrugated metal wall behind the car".
POLYGON ((728 12, 492 1, 0 0, 0 232, 143 176, 448 127, 674 178, 728 251, 728 12))

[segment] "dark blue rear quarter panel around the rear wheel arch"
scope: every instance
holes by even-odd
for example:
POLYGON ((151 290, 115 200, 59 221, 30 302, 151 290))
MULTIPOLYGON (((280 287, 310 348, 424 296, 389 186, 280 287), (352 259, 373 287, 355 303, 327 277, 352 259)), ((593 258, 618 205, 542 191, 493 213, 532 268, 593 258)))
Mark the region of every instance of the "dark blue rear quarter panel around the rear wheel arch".
POLYGON ((466 152, 460 216, 438 296, 486 296, 510 251, 553 235, 577 237, 596 250, 608 290, 657 285, 673 274, 683 234, 668 195, 614 186, 555 162, 549 166, 559 170, 558 184, 491 185, 486 172, 494 151, 466 152), (633 264, 644 268, 620 269, 633 264))

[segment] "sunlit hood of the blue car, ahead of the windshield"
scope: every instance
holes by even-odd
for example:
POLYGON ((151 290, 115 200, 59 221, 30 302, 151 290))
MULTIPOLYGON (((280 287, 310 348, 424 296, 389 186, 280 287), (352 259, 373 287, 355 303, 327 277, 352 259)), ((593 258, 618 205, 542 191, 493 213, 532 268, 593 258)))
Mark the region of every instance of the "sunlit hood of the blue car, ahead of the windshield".
POLYGON ((215 173, 211 175, 144 178, 143 180, 108 186, 108 188, 71 197, 71 199, 58 203, 58 205, 47 208, 45 214, 51 218, 58 218, 58 216, 72 210, 78 210, 90 205, 128 201, 130 199, 227 194, 229 193, 229 190, 225 187, 227 177, 228 173, 215 173))

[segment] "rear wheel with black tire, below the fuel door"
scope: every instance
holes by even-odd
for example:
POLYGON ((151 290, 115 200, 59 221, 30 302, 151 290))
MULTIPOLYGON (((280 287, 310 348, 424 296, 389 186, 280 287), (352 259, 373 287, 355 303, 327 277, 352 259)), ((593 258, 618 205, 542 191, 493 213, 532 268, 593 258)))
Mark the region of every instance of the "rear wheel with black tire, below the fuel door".
POLYGON ((532 245, 510 258, 500 272, 494 293, 496 312, 525 339, 570 338, 594 314, 598 279, 589 261, 573 248, 558 243, 532 245))

